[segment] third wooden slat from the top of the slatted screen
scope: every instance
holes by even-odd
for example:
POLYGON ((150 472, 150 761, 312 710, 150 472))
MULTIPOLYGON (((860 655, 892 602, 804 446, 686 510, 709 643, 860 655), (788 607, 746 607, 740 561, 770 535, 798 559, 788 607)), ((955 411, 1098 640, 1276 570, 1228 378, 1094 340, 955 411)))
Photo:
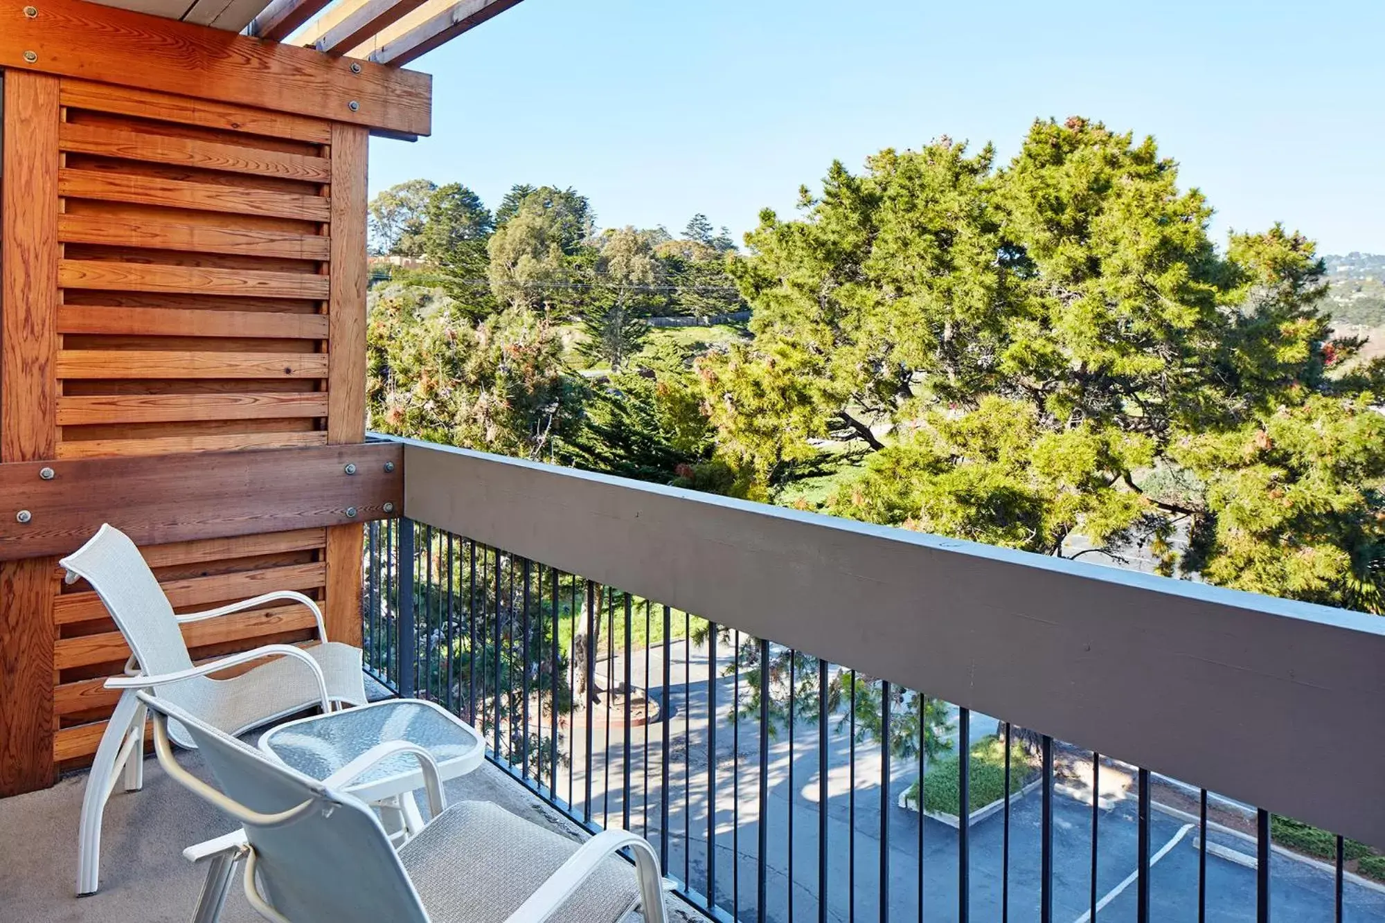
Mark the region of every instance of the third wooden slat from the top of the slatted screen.
POLYGON ((166 205, 169 208, 197 208, 233 215, 271 215, 309 222, 325 222, 331 216, 331 202, 325 195, 301 195, 244 186, 220 186, 137 173, 107 173, 104 170, 58 170, 58 194, 114 202, 166 205))

